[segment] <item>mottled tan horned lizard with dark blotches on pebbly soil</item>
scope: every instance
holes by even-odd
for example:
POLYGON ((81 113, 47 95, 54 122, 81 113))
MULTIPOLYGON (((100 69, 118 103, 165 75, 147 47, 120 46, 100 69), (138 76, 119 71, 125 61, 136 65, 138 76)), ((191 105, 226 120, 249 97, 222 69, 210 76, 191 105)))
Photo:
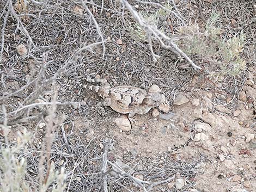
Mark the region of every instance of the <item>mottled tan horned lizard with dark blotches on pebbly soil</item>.
POLYGON ((103 101, 97 106, 109 106, 115 112, 129 114, 133 117, 136 114, 146 114, 151 108, 161 106, 163 112, 168 112, 169 106, 166 98, 161 94, 161 89, 157 85, 152 85, 148 91, 134 86, 116 86, 111 88, 105 79, 96 76, 94 79, 87 78, 87 82, 100 83, 100 86, 87 86, 88 89, 95 91, 103 101))

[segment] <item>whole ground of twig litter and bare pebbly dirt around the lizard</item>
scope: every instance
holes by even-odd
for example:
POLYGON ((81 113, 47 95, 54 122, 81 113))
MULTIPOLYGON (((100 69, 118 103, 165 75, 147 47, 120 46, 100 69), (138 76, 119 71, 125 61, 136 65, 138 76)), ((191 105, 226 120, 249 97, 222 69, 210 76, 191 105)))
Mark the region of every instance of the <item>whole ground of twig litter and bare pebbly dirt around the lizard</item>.
MULTIPOLYGON (((51 143, 47 163, 65 168, 69 191, 103 191, 104 179, 108 191, 256 191, 254 1, 169 2, 175 2, 172 9, 186 23, 197 22, 200 28, 213 11, 218 12, 223 39, 241 31, 246 34, 241 54, 246 68, 237 76, 222 78, 212 78, 221 69, 210 59, 192 55, 202 67, 197 70, 156 43, 154 52, 161 58, 154 63, 148 43, 132 38, 129 27, 135 21, 120 2, 28 1, 26 8, 13 2, 13 10, 8 2, 0 3, 0 124, 8 125, 10 132, 1 136, 1 148, 6 139, 10 145, 17 143, 17 131, 31 132, 32 140, 19 158, 27 158, 26 181, 32 186, 39 185, 35 181, 38 162, 51 143), (90 14, 107 39, 105 48, 90 14), (25 54, 17 49, 21 44, 25 54), (100 75, 112 87, 148 90, 157 84, 171 111, 167 116, 153 117, 152 109, 136 115, 131 130, 122 131, 115 123, 119 113, 96 107, 102 99, 87 89, 88 74, 100 75), (174 104, 178 95, 185 96, 186 102, 174 104), (53 101, 59 102, 55 116, 53 101), (106 166, 110 171, 102 174, 106 139, 112 140, 106 166), (114 172, 113 164, 125 174, 114 172)), ((159 8, 159 4, 129 3, 147 13, 159 8)), ((182 25, 175 15, 165 22, 170 26, 168 35, 175 36, 182 25)))

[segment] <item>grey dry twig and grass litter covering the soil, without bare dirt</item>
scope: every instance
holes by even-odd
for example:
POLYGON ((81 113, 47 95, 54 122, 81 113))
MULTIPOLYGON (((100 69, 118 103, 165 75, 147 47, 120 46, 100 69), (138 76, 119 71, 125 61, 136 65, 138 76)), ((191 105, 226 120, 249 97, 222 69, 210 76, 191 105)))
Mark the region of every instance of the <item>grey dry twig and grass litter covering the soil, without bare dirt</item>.
MULTIPOLYGON (((211 79, 209 74, 220 72, 220 66, 193 55, 193 63, 203 68, 202 71, 194 70, 186 65, 184 59, 176 58, 170 48, 166 50, 156 44, 154 39, 151 40, 153 46, 149 45, 150 48, 143 41, 133 40, 129 27, 136 20, 116 1, 19 2, 21 7, 16 8, 8 4, 12 3, 10 0, 0 3, 0 104, 6 109, 6 112, 4 108, 0 110, 0 123, 11 125, 13 129, 27 127, 33 133, 33 139, 29 141, 26 150, 21 150, 17 158, 27 159, 25 178, 34 186, 35 191, 48 177, 51 162, 54 162, 57 170, 60 170, 60 166, 65 167, 65 182, 69 191, 99 191, 102 179, 105 179, 109 191, 138 190, 130 175, 112 177, 107 174, 105 178, 102 177, 99 138, 85 144, 72 133, 71 119, 75 115, 98 117, 95 110, 89 107, 91 102, 95 102, 91 99, 94 95, 83 89, 86 84, 84 78, 88 73, 102 75, 111 85, 128 84, 147 89, 151 84, 158 84, 169 99, 178 91, 191 91, 189 82, 197 76, 199 81, 194 89, 225 91, 232 98, 231 102, 217 98, 215 102, 229 107, 236 104, 237 95, 246 79, 246 71, 237 77, 227 75, 221 80, 211 79), (73 11, 76 6, 83 10, 82 15, 73 11), (24 57, 16 52, 19 44, 28 49, 24 57), (153 53, 161 56, 156 63, 153 61, 153 53), (217 86, 220 82, 225 82, 222 87, 217 86), (48 116, 48 109, 52 107, 56 110, 50 110, 52 114, 48 116), (60 112, 68 114, 69 119, 61 123, 54 122, 60 112), (52 120, 48 121, 49 117, 52 120), (45 141, 39 139, 45 137, 45 133, 38 128, 40 122, 48 122, 47 125, 50 123, 46 136, 51 135, 51 138, 46 137, 45 141), (65 125, 69 125, 66 130, 65 125), (44 154, 46 152, 47 155, 44 154), (45 156, 46 161, 42 156, 45 156), (36 180, 40 173, 40 158, 41 165, 44 165, 41 169, 42 178, 36 180)), ((131 5, 135 4, 139 4, 138 11, 145 13, 154 13, 161 6, 164 7, 159 2, 131 2, 131 5)), ((160 26, 168 27, 165 34, 175 39, 179 27, 190 22, 198 23, 203 29, 211 11, 219 12, 218 22, 224 29, 221 38, 227 40, 243 31, 247 39, 242 57, 248 65, 255 65, 256 21, 251 2, 181 1, 174 5, 172 1, 170 4, 173 7, 170 11, 172 14, 168 15, 165 25, 160 26)), ((10 142, 8 147, 15 143, 10 142)), ((5 146, 2 140, 1 149, 5 146)), ((183 191, 194 186, 193 178, 198 173, 198 165, 205 159, 198 157, 192 162, 181 162, 174 161, 169 154, 163 154, 163 158, 166 159, 164 164, 156 162, 153 165, 149 158, 133 159, 131 154, 124 157, 126 160, 133 159, 129 163, 131 167, 144 162, 143 168, 137 169, 148 182, 143 183, 142 189, 145 187, 144 190, 150 190, 157 184, 159 190, 167 190, 166 179, 179 172, 188 183, 183 191)), ((111 168, 110 163, 105 170, 111 168)), ((53 185, 48 189, 52 190, 53 185)))

